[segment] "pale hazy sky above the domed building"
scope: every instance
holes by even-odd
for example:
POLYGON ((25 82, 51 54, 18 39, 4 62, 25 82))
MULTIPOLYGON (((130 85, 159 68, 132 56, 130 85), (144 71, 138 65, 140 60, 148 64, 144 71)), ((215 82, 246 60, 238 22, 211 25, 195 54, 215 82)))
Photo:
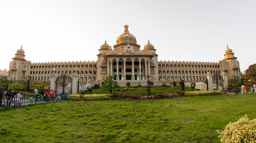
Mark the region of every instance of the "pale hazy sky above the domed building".
POLYGON ((96 61, 125 24, 158 61, 218 62, 227 44, 241 71, 256 63, 255 0, 0 0, 0 69, 21 45, 32 63, 96 61))

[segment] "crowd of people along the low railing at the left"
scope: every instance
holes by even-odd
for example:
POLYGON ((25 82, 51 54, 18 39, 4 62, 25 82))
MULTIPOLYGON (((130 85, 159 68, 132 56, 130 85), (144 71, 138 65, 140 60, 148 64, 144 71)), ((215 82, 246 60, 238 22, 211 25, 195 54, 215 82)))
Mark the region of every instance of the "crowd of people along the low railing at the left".
MULTIPOLYGON (((41 90, 38 91, 38 88, 36 88, 32 93, 35 93, 35 99, 41 99, 42 101, 53 101, 54 100, 54 90, 51 89, 50 92, 48 89, 46 89, 45 93, 41 90)), ((8 88, 6 92, 3 91, 2 88, 0 88, 0 107, 11 107, 12 106, 18 106, 22 104, 22 94, 20 91, 15 91, 15 89, 8 88)), ((33 97, 31 96, 30 101, 32 103, 33 97)))

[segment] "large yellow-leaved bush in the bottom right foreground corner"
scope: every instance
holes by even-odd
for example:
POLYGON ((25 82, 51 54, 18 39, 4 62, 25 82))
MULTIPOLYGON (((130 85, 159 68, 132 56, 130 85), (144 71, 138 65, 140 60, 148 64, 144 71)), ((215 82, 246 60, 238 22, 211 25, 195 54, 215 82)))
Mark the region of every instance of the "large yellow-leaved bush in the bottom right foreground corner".
POLYGON ((217 130, 222 143, 253 143, 256 142, 256 119, 249 120, 247 115, 236 122, 229 122, 224 131, 217 130))

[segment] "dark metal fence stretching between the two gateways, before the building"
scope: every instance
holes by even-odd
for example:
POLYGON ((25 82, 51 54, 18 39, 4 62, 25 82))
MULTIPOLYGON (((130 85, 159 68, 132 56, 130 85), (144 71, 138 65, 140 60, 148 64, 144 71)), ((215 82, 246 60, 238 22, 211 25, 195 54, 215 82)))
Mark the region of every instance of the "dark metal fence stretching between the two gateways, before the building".
MULTIPOLYGON (((122 82, 117 81, 118 87, 112 87, 112 94, 141 94, 155 95, 164 92, 181 92, 181 81, 165 81, 165 82, 150 82, 150 87, 147 87, 147 81, 143 82, 122 82), (150 93, 148 94, 148 88, 150 93)), ((184 81, 184 91, 207 90, 206 80, 188 80, 184 81)), ((102 82, 79 82, 78 91, 86 91, 86 93, 107 94, 110 90, 102 88, 102 82), (89 90, 88 90, 88 88, 89 90), (90 92, 91 91, 91 92, 90 92)))

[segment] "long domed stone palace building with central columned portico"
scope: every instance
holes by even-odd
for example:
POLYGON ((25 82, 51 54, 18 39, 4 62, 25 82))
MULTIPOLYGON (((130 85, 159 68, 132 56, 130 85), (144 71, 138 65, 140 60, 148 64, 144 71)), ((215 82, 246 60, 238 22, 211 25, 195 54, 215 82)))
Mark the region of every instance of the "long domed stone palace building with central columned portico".
POLYGON ((22 46, 17 50, 9 66, 9 80, 30 77, 32 80, 50 80, 50 74, 72 76, 77 72, 80 81, 102 81, 106 76, 115 80, 204 80, 208 69, 211 73, 240 75, 240 65, 231 49, 226 47, 224 59, 219 62, 158 61, 155 47, 148 43, 140 49, 136 37, 124 25, 124 32, 111 46, 107 41, 98 49, 97 61, 32 63, 25 59, 22 46))

